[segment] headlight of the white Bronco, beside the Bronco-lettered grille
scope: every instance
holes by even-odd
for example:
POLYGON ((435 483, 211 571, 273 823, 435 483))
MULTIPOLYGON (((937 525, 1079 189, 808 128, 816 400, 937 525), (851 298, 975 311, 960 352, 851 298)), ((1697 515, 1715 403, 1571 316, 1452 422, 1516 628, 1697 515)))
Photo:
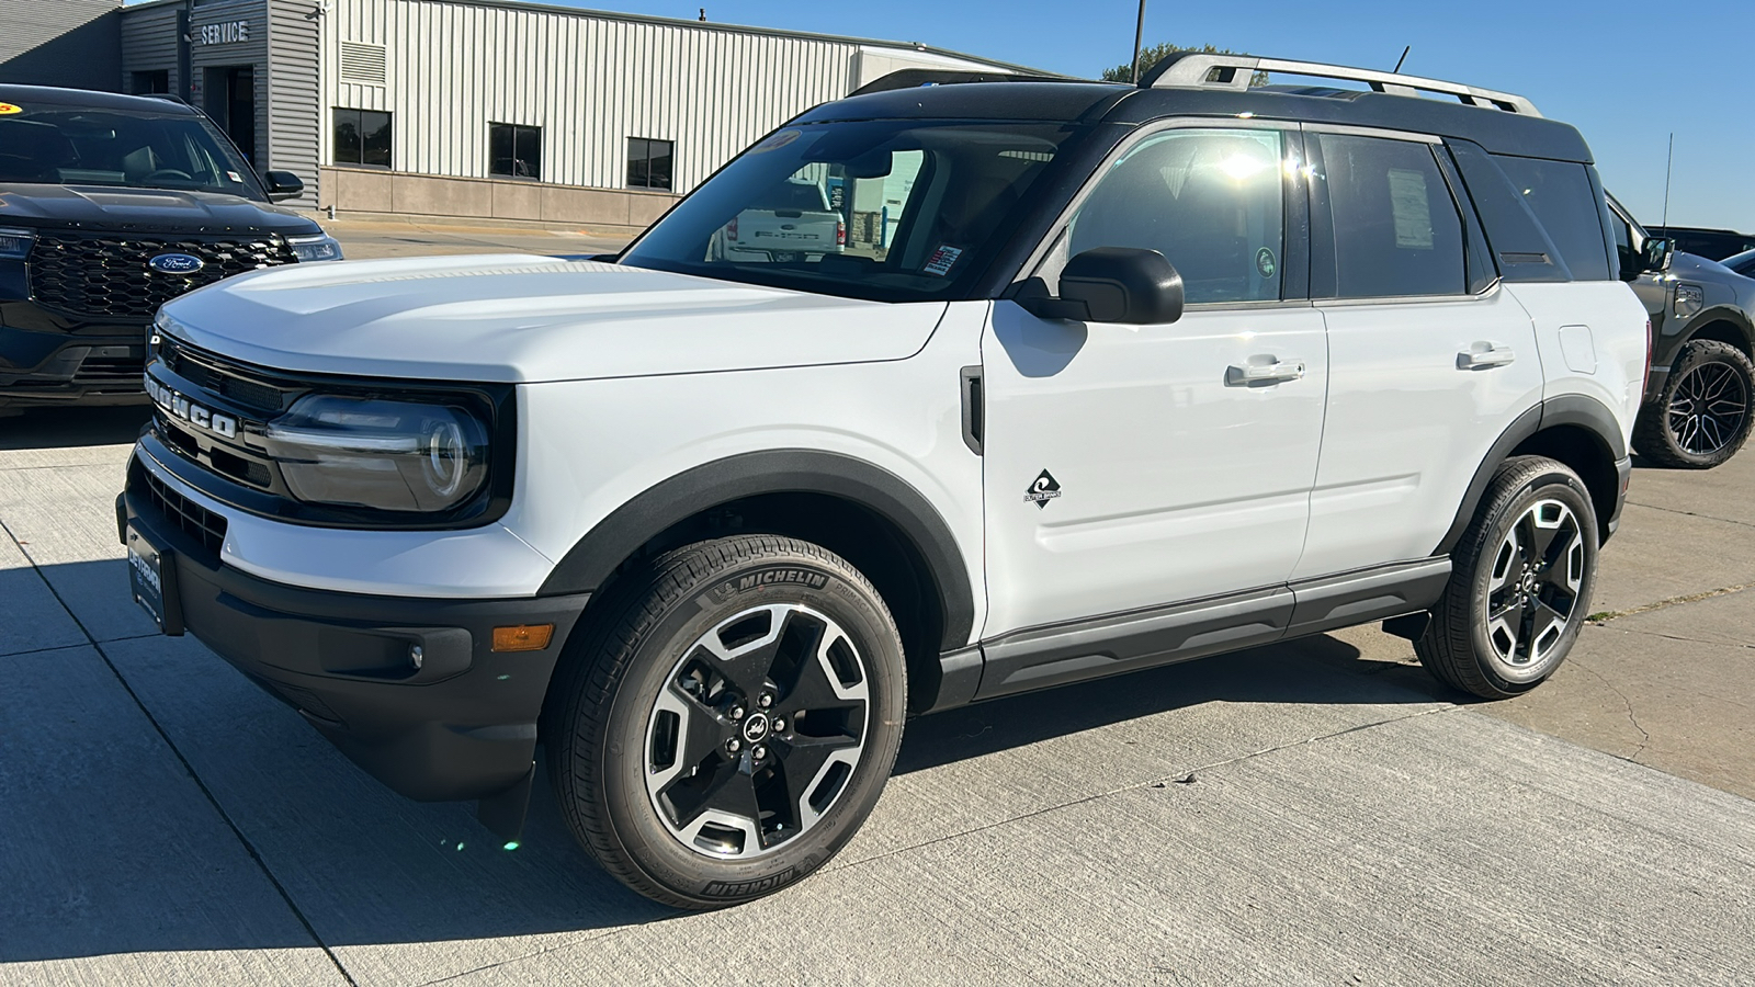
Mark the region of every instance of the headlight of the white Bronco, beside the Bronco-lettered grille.
POLYGON ((293 497, 448 511, 488 479, 488 429, 462 407, 312 393, 263 436, 293 497))

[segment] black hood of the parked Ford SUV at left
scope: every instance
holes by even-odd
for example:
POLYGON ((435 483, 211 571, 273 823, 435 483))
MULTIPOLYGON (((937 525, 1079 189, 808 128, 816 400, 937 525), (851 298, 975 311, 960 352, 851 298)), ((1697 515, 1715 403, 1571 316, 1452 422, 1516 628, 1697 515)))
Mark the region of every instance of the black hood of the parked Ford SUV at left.
POLYGON ((140 232, 195 234, 256 230, 288 235, 323 232, 316 221, 237 195, 116 188, 98 184, 0 183, 0 227, 98 227, 140 232))

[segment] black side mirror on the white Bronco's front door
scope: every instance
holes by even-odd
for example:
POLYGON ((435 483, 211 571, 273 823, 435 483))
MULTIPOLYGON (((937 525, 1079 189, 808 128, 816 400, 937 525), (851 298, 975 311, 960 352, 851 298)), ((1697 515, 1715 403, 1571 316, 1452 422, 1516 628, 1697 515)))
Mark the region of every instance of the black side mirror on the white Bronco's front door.
POLYGON ((1155 249, 1095 248, 1060 270, 1060 297, 1020 297, 1037 318, 1164 325, 1183 318, 1183 276, 1155 249))

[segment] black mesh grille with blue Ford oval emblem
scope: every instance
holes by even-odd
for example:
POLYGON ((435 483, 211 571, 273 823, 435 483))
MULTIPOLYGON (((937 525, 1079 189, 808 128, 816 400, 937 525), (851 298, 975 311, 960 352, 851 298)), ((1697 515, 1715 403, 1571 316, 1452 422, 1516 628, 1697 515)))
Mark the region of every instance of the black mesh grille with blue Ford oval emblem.
POLYGON ((30 293, 44 307, 77 316, 153 318, 158 306, 221 277, 293 263, 279 237, 160 239, 123 234, 44 232, 30 251, 30 293), (146 262, 186 253, 204 262, 193 274, 165 274, 146 262))

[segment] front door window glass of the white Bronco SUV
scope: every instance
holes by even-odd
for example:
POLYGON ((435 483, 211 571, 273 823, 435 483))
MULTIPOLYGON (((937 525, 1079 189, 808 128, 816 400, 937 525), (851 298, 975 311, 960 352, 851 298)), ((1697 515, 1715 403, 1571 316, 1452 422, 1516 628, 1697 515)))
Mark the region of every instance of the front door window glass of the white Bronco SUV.
POLYGON ((1190 302, 1279 299, 1285 253, 1278 130, 1174 130, 1123 155, 1079 205, 1067 256, 1155 249, 1190 302))

